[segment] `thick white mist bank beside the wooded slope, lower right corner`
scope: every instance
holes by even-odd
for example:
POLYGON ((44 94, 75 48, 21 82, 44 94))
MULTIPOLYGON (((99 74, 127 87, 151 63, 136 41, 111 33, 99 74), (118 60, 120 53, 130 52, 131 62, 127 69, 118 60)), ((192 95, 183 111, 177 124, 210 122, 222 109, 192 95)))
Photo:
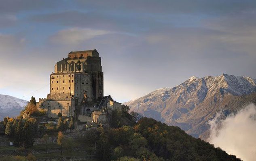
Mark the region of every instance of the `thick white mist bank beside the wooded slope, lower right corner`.
POLYGON ((208 141, 244 161, 254 161, 256 158, 256 106, 250 104, 237 114, 231 114, 220 122, 219 117, 218 114, 209 122, 211 135, 208 141))

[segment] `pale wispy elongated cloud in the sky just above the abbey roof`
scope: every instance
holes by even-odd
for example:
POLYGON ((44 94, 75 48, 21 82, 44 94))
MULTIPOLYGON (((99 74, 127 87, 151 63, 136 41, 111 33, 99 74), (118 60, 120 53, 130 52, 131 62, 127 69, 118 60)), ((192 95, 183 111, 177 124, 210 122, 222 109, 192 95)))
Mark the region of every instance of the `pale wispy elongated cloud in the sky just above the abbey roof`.
POLYGON ((50 37, 50 40, 53 43, 77 44, 100 35, 106 35, 108 33, 110 32, 104 30, 81 29, 74 27, 57 32, 55 35, 50 37))

